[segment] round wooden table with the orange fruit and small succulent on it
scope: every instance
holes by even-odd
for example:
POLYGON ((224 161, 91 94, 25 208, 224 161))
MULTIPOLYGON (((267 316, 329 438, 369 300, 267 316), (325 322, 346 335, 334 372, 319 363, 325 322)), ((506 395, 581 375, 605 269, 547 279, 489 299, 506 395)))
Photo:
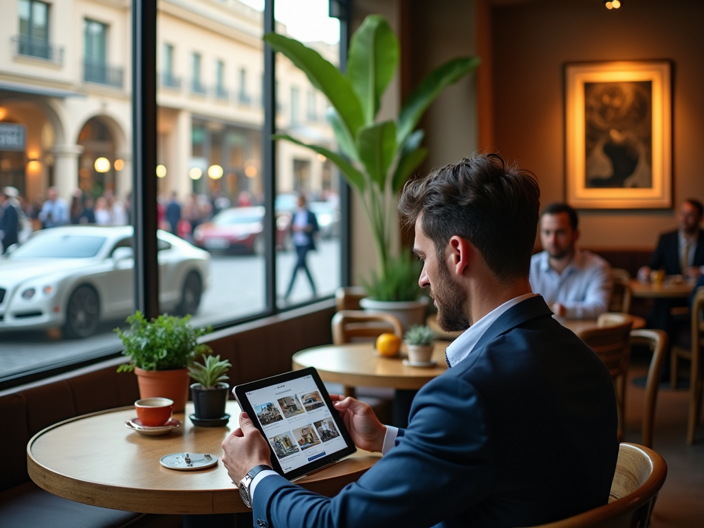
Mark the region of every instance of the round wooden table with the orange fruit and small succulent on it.
POLYGON ((436 341, 433 367, 407 367, 401 356, 384 358, 372 343, 324 345, 296 352, 294 370, 315 367, 325 382, 351 386, 386 386, 393 389, 417 390, 447 370, 445 351, 449 341, 436 341))

